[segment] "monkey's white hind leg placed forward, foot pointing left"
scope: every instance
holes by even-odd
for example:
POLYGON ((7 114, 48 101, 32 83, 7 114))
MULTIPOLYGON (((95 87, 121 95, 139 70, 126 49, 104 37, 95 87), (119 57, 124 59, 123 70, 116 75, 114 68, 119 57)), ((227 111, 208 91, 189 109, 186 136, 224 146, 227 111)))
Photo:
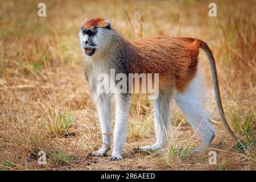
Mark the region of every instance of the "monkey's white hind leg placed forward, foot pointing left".
POLYGON ((154 123, 156 143, 151 146, 139 147, 141 150, 159 150, 166 146, 168 126, 170 124, 170 100, 172 92, 159 93, 154 100, 154 123))

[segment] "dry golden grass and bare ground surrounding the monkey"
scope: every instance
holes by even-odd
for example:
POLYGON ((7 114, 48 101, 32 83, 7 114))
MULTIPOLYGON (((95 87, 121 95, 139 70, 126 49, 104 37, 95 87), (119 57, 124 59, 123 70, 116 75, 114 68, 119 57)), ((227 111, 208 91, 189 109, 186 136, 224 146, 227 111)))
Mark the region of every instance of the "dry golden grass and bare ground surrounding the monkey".
POLYGON ((210 1, 44 1, 46 17, 38 16, 40 2, 0 1, 0 170, 255 170, 255 1, 214 1, 215 18, 208 16, 210 1), (77 39, 86 17, 109 18, 127 39, 166 35, 207 42, 226 117, 242 145, 221 123, 207 57, 200 53, 205 107, 216 129, 209 149, 192 154, 200 139, 171 102, 167 148, 134 151, 155 140, 152 102, 141 94, 133 96, 124 159, 90 156, 101 146, 101 131, 77 39), (39 151, 46 152, 46 165, 38 163, 39 151), (209 151, 216 151, 216 164, 208 163, 209 151))

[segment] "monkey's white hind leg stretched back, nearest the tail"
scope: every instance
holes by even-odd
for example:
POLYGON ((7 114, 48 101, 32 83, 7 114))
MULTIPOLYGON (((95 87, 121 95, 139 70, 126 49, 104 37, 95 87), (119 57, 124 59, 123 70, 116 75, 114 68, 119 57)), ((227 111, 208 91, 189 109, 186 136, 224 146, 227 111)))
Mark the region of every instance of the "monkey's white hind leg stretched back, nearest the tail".
POLYGON ((195 133, 201 136, 201 144, 193 152, 199 153, 210 146, 215 137, 214 130, 209 122, 209 115, 205 112, 202 103, 203 88, 200 86, 199 75, 188 85, 185 92, 175 93, 175 101, 187 118, 195 133))

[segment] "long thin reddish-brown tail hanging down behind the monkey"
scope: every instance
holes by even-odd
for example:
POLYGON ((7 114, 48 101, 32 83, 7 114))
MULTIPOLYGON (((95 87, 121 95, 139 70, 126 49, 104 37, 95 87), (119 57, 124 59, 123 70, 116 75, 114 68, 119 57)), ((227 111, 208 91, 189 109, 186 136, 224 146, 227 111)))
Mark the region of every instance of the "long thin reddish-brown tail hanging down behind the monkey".
POLYGON ((222 122, 223 122, 226 130, 228 131, 228 133, 231 135, 231 137, 237 141, 239 139, 237 138, 234 131, 230 128, 228 121, 226 121, 224 110, 223 110, 223 107, 221 104, 220 88, 218 87, 217 69, 216 69, 216 64, 215 64, 215 60, 214 60, 212 51, 208 47, 207 43, 203 42, 202 40, 199 40, 199 42, 200 42, 200 48, 204 50, 204 52, 207 54, 207 57, 209 60, 210 71, 212 72, 212 82, 213 82, 213 86, 214 86, 214 93, 215 93, 218 111, 220 113, 222 122))

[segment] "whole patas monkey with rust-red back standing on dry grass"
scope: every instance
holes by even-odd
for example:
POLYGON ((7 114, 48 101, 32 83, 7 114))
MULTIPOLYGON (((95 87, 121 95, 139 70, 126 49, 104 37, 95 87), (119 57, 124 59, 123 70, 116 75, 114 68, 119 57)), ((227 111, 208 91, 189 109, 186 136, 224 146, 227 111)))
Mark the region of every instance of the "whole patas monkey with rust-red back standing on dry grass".
MULTIPOLYGON (((221 105, 215 61, 205 42, 193 38, 157 36, 129 41, 110 26, 109 20, 96 18, 86 20, 79 31, 79 42, 85 59, 84 73, 96 104, 102 132, 102 147, 92 155, 102 156, 111 146, 111 104, 109 93, 98 93, 100 73, 159 73, 159 96, 154 100, 154 123, 156 142, 142 150, 158 150, 166 144, 170 118, 170 100, 174 96, 193 130, 200 134, 201 145, 195 150, 203 151, 215 134, 209 116, 200 102, 200 75, 197 74, 199 48, 207 54, 212 72, 214 93, 221 119, 229 134, 237 139, 225 119, 221 105)), ((115 126, 113 152, 110 160, 122 159, 129 115, 130 93, 115 93, 115 126)))

